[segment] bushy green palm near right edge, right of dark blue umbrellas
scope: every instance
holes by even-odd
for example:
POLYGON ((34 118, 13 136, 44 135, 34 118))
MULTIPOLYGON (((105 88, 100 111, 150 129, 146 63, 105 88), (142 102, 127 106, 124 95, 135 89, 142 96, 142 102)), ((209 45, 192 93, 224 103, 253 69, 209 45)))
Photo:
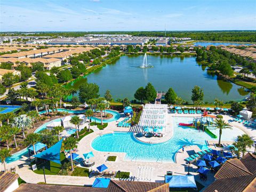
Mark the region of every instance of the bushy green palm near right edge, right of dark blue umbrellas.
POLYGON ((253 145, 253 140, 252 138, 247 135, 247 134, 243 134, 242 136, 241 135, 238 135, 237 136, 237 141, 234 143, 234 145, 237 147, 238 149, 238 153, 239 151, 242 151, 242 154, 244 156, 245 152, 246 152, 246 148, 249 147, 251 148, 252 145, 253 145))

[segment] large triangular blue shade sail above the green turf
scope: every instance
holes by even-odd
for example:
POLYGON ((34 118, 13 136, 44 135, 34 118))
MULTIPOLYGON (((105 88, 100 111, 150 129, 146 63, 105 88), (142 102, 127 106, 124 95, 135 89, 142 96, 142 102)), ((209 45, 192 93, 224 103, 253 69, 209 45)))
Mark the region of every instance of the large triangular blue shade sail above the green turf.
POLYGON ((61 139, 59 142, 55 143, 55 145, 53 145, 49 149, 44 150, 42 153, 34 155, 34 157, 43 158, 48 161, 52 161, 52 162, 61 164, 60 163, 60 148, 62 145, 62 141, 63 141, 63 139, 61 139))

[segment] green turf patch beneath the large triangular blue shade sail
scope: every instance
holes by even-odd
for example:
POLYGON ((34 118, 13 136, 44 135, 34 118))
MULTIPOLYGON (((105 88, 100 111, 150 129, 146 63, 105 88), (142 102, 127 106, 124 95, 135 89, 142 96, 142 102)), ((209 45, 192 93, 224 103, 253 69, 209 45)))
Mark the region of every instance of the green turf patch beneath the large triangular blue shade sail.
MULTIPOLYGON (((62 164, 64 162, 68 161, 68 159, 66 159, 66 156, 64 153, 60 154, 60 161, 62 164)), ((35 170, 34 172, 37 174, 44 174, 43 166, 45 167, 45 169, 44 169, 45 174, 49 174, 49 175, 57 175, 61 170, 60 164, 51 162, 51 161, 46 161, 44 163, 37 165, 37 170, 35 170)))

